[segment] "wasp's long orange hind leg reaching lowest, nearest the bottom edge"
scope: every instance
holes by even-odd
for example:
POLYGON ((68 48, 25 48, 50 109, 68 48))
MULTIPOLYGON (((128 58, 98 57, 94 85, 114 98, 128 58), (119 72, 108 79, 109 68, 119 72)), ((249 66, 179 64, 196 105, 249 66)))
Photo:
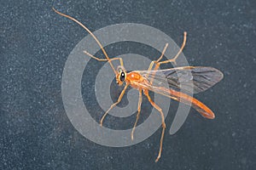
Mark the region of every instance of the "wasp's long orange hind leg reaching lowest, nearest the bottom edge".
POLYGON ((148 90, 145 90, 144 94, 148 97, 148 101, 150 102, 150 104, 153 105, 153 107, 157 111, 160 112, 160 116, 161 116, 161 119, 162 119, 162 127, 163 127, 163 129, 162 129, 162 134, 161 134, 161 139, 160 139, 160 150, 159 150, 157 158, 155 159, 155 162, 157 162, 160 159, 161 152, 162 152, 162 149, 163 149, 163 140, 164 140, 164 135, 165 135, 165 130, 166 130, 165 116, 164 116, 164 113, 163 113, 162 109, 160 108, 160 106, 156 105, 154 103, 154 101, 150 98, 150 96, 148 95, 148 90))

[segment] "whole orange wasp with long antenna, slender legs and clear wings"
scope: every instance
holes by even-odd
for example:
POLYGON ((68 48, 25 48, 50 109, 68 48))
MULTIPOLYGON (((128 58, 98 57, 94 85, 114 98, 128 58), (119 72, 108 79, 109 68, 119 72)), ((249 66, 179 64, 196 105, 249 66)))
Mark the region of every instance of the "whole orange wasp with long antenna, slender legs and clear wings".
POLYGON ((136 88, 139 91, 139 100, 138 100, 138 107, 137 107, 137 119, 136 122, 134 123, 134 126, 131 130, 131 139, 133 139, 133 133, 135 131, 135 127, 137 127, 137 121, 140 116, 141 112, 141 105, 142 105, 142 100, 143 100, 143 94, 148 98, 149 103, 157 110, 160 112, 161 116, 161 122, 162 122, 162 133, 161 133, 161 138, 160 138, 160 150, 157 158, 155 161, 159 161, 160 156, 161 156, 161 151, 162 151, 162 145, 163 145, 163 139, 164 139, 164 134, 165 134, 165 129, 166 129, 166 123, 165 123, 165 117, 164 114, 160 108, 159 105, 156 105, 154 101, 150 98, 148 91, 152 91, 156 94, 162 94, 170 99, 175 99, 179 102, 183 102, 184 104, 188 104, 198 111, 201 116, 204 116, 208 119, 213 119, 214 113, 207 107, 207 105, 204 105, 199 101, 198 99, 195 99, 194 97, 190 96, 189 94, 184 94, 180 91, 177 91, 177 89, 180 89, 180 83, 182 83, 182 80, 179 80, 177 76, 174 76, 176 72, 178 71, 182 75, 192 75, 191 77, 183 77, 182 79, 186 81, 186 78, 191 80, 192 87, 195 93, 200 93, 207 88, 211 88, 214 84, 219 82, 224 76, 221 71, 218 71, 215 68, 212 67, 205 67, 205 66, 183 66, 183 67, 175 67, 171 69, 166 69, 166 70, 158 70, 161 64, 166 64, 166 63, 176 63, 176 59, 179 56, 179 54, 182 53, 183 48, 186 43, 186 37, 187 33, 184 32, 183 36, 183 44, 180 50, 178 51, 177 55, 173 57, 172 59, 167 59, 164 61, 160 61, 165 52, 166 48, 168 47, 168 43, 166 43, 165 48, 163 49, 160 58, 157 60, 154 60, 151 62, 149 65, 148 71, 130 71, 127 72, 124 67, 123 59, 121 58, 112 58, 110 59, 108 57, 108 54, 106 53, 105 49, 102 47, 101 42, 96 38, 96 36, 82 23, 79 22, 79 20, 74 19, 73 17, 67 15, 67 14, 62 14, 61 12, 57 11, 55 8, 53 8, 55 13, 60 14, 64 17, 67 17, 70 20, 73 20, 79 26, 82 26, 86 31, 90 33, 90 35, 95 39, 97 44, 100 46, 102 49, 102 53, 105 55, 106 59, 99 59, 95 57, 92 54, 89 54, 87 51, 84 51, 84 54, 89 55, 91 58, 96 59, 98 61, 108 61, 109 65, 113 69, 113 72, 115 74, 116 82, 119 84, 119 86, 125 84, 125 88, 123 88, 121 94, 119 95, 119 99, 117 102, 113 103, 113 105, 110 106, 108 111, 105 112, 105 114, 102 116, 102 119, 100 121, 101 126, 104 118, 108 115, 108 112, 113 109, 115 105, 118 105, 121 99, 123 98, 125 94, 125 90, 131 86, 131 88, 136 88), (117 70, 114 69, 112 61, 118 59, 120 62, 120 65, 118 66, 117 70), (188 72, 190 74, 188 74, 188 72), (161 82, 166 81, 168 82, 169 86, 172 88, 164 88, 161 87, 160 84, 161 82), (154 84, 153 84, 154 82, 154 84), (156 83, 155 83, 156 82, 156 83), (156 84, 156 85, 155 85, 156 84), (159 84, 159 85, 157 85, 159 84))

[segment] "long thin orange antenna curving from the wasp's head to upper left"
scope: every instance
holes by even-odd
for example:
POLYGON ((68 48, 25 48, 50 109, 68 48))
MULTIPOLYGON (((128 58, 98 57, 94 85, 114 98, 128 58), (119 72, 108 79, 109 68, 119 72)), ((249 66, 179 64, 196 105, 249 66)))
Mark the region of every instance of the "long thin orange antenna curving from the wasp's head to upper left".
POLYGON ((117 75, 117 72, 115 71, 115 69, 113 67, 113 64, 111 63, 111 60, 109 59, 108 54, 106 53, 105 49, 102 47, 102 43, 96 38, 96 36, 86 26, 84 26, 81 22, 79 22, 79 20, 76 20, 76 19, 74 19, 73 17, 71 17, 71 16, 69 16, 67 14, 62 14, 61 12, 57 11, 55 8, 52 8, 52 9, 55 11, 55 13, 60 14, 61 16, 64 16, 64 17, 68 18, 69 20, 73 20, 74 22, 79 24, 79 26, 82 26, 84 28, 84 30, 86 30, 86 31, 88 31, 90 33, 91 37, 93 37, 95 39, 97 44, 102 49, 103 54, 108 59, 108 63, 111 66, 111 68, 113 69, 114 74, 117 75))

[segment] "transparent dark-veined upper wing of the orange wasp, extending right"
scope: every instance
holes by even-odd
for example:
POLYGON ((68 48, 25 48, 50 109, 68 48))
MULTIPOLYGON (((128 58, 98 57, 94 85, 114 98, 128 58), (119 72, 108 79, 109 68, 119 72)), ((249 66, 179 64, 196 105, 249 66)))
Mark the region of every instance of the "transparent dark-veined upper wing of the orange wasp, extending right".
POLYGON ((167 81, 171 88, 182 89, 194 94, 201 93, 223 78, 223 73, 212 67, 204 66, 184 66, 159 71, 137 71, 143 77, 151 81, 153 85, 161 86, 167 81))

